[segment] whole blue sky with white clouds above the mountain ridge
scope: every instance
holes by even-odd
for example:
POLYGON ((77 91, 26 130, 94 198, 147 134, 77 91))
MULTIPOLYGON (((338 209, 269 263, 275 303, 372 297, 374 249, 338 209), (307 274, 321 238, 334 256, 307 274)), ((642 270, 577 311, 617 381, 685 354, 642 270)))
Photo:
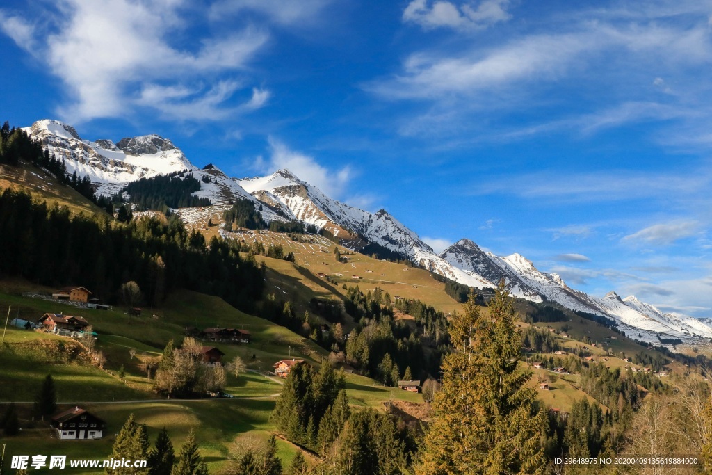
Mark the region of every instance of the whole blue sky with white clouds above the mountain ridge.
POLYGON ((2 120, 280 167, 574 288, 712 316, 712 2, 0 7, 2 120))

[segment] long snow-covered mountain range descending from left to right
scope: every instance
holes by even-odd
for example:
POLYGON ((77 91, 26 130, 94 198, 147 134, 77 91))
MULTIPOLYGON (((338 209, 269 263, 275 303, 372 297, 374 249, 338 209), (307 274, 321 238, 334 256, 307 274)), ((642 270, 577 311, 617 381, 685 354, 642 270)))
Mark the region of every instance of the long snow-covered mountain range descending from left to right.
MULTIPOLYGON (((79 137, 76 130, 56 120, 40 120, 26 132, 41 140, 56 156, 63 157, 69 173, 88 176, 100 194, 113 194, 142 177, 190 170, 201 179, 194 193, 211 199, 213 207, 228 209, 234 199, 248 199, 265 221, 297 220, 327 229, 342 244, 370 254, 409 259, 453 281, 475 288, 494 288, 502 279, 514 296, 537 303, 558 303, 570 310, 612 318, 631 338, 659 344, 660 338, 693 342, 712 338, 712 320, 662 313, 634 296, 620 298, 614 292, 595 298, 567 286, 557 274, 538 271, 520 254, 495 256, 482 251, 469 239, 461 239, 436 254, 419 236, 394 216, 379 209, 375 213, 351 207, 326 196, 320 189, 281 169, 266 177, 231 178, 216 167, 199 169, 172 142, 158 135, 119 140, 79 137)), ((179 210, 187 222, 195 222, 205 210, 179 210)))

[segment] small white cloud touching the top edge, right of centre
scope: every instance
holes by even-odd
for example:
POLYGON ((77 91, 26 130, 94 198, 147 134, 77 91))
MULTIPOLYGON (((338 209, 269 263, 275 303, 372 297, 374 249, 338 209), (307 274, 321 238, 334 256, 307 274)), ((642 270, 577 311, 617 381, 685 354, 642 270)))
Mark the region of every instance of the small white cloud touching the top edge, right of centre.
POLYGON ((476 8, 470 2, 459 6, 451 1, 412 0, 403 11, 403 21, 419 24, 424 29, 448 27, 459 30, 485 28, 511 15, 506 11, 508 0, 484 0, 476 8))

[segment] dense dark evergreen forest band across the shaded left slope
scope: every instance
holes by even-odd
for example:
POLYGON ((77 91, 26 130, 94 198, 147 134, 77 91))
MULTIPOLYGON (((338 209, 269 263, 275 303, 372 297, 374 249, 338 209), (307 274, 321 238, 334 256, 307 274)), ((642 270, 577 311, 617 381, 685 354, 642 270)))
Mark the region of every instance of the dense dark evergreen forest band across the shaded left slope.
POLYGON ((240 256, 237 244, 216 237, 206 244, 175 216, 122 225, 108 217, 72 217, 66 208, 6 189, 0 229, 0 276, 46 286, 81 283, 105 301, 119 301, 120 285, 136 281, 153 305, 185 288, 250 311, 263 289, 263 271, 240 256))

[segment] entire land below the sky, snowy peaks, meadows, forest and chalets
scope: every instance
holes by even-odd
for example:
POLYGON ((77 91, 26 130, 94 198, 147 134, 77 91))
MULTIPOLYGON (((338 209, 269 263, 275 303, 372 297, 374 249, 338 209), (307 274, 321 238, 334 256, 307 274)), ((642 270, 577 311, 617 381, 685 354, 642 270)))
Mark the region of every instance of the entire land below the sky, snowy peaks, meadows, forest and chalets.
POLYGON ((712 328, 476 281, 286 169, 5 122, 0 249, 2 474, 712 473, 712 328), (695 463, 566 463, 644 454, 695 463))

